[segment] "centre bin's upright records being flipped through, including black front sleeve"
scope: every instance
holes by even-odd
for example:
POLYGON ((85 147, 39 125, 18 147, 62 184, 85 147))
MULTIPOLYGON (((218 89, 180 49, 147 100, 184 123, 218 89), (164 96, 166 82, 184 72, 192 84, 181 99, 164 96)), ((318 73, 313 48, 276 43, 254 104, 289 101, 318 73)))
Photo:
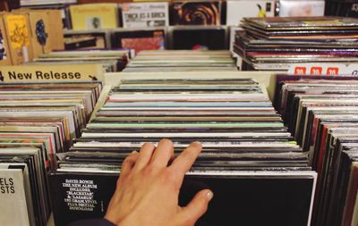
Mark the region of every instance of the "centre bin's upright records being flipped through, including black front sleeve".
POLYGON ((124 158, 170 138, 203 150, 179 196, 215 196, 196 225, 310 225, 316 172, 251 79, 122 80, 51 174, 56 226, 102 217, 124 158))

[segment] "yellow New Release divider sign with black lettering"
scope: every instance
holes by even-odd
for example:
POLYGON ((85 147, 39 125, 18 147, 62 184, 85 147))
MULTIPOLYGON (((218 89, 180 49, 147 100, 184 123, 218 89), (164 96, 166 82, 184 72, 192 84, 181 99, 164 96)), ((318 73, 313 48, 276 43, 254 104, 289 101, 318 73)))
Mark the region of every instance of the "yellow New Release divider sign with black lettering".
POLYGON ((0 68, 0 82, 103 80, 101 64, 21 65, 0 68))

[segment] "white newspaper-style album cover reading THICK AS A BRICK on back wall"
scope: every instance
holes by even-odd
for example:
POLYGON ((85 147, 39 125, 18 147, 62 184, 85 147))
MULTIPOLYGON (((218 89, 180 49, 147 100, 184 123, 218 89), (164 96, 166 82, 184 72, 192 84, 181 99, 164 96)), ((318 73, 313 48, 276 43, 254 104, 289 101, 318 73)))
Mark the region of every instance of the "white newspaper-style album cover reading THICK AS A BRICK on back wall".
POLYGON ((168 3, 121 4, 124 28, 169 26, 168 3))

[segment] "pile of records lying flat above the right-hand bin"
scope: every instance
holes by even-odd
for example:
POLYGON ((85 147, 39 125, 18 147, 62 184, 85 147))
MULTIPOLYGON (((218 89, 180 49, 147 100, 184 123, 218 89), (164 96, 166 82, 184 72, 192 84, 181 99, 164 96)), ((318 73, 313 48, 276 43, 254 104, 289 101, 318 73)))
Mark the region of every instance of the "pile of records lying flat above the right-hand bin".
POLYGON ((358 19, 245 18, 234 52, 247 69, 286 71, 292 63, 357 63, 358 19))

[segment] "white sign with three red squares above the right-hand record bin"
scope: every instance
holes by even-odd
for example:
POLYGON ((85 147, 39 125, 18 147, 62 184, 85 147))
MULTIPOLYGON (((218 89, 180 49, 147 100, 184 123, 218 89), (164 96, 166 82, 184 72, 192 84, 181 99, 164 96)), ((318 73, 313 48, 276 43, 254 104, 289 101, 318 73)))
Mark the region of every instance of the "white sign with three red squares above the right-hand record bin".
POLYGON ((303 63, 292 64, 288 70, 294 75, 353 75, 358 76, 358 63, 303 63))

